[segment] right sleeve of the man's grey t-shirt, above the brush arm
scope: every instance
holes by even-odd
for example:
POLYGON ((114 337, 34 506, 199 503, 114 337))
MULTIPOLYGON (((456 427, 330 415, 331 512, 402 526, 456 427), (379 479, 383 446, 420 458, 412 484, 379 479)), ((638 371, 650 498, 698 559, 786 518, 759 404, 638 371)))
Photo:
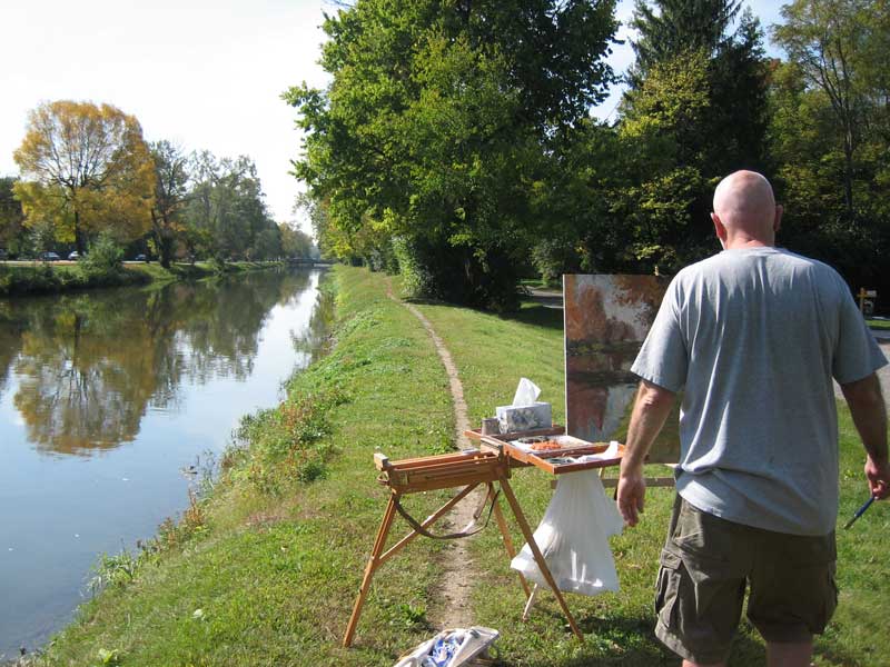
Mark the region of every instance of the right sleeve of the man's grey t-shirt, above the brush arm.
POLYGON ((886 366, 887 357, 866 325, 847 285, 839 280, 841 306, 831 375, 839 384, 847 385, 861 380, 886 366))

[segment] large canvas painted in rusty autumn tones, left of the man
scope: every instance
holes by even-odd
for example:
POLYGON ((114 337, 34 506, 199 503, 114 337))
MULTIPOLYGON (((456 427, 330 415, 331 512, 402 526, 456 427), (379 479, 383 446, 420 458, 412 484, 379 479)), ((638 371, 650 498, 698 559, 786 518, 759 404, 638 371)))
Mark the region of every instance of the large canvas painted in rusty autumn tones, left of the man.
MULTIPOLYGON (((639 381, 631 365, 655 319, 668 282, 657 276, 563 277, 570 435, 590 441, 609 440, 625 422, 639 381)), ((650 460, 676 461, 678 455, 653 448, 650 460)))

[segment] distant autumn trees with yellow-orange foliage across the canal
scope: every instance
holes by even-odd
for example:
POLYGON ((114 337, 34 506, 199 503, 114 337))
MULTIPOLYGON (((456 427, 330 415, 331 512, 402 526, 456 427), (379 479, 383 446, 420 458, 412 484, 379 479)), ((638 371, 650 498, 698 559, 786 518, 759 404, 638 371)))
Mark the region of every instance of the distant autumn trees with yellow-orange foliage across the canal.
POLYGON ((100 236, 165 267, 317 255, 308 235, 271 218, 250 158, 146 142, 136 118, 110 104, 40 104, 13 157, 20 178, 0 179, 7 256, 83 256, 100 236))

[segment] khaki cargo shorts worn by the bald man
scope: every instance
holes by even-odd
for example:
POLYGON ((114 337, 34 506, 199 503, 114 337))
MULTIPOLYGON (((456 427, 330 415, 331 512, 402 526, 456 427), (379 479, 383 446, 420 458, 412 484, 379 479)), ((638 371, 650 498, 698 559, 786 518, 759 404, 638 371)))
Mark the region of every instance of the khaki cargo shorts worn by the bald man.
POLYGON ((701 511, 680 495, 661 552, 655 635, 693 663, 726 658, 750 585, 748 618, 767 641, 807 641, 838 604, 834 532, 773 532, 701 511))

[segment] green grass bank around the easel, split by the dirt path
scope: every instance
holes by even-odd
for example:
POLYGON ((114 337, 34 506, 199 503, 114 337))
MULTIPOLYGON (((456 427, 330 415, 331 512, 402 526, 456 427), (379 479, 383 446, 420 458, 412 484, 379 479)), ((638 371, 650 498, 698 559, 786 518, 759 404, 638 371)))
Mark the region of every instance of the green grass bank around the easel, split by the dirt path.
MULTIPOLYGON (((346 627, 385 489, 372 455, 392 458, 446 450, 453 432, 447 378, 429 337, 386 298, 386 279, 337 267, 338 323, 333 352, 296 377, 287 400, 245 422, 241 446, 224 460, 212 492, 182 520, 162 527, 139 556, 107 563, 105 593, 49 647, 47 665, 355 665, 390 666, 433 633, 437 559, 448 548, 413 542, 384 566, 358 629, 346 627)), ((527 306, 501 318, 419 306, 457 365, 474 422, 512 398, 521 376, 535 380, 563 415, 561 311, 527 306)), ((863 499, 859 445, 842 411, 842 516, 863 499)), ((514 488, 536 524, 550 479, 517 471, 514 488)), ((442 495, 406 505, 426 516, 442 495)), ((675 665, 652 638, 652 585, 671 491, 652 490, 643 524, 613 541, 622 591, 568 596, 587 641, 567 633, 543 595, 527 625, 523 599, 493 528, 472 542, 475 623, 498 628, 502 665, 675 665)), ((404 524, 397 524, 399 531, 404 524)), ((839 535, 841 607, 819 640, 819 665, 888 665, 879 637, 890 636, 887 594, 890 511, 876 506, 839 535)), ((518 532, 516 540, 521 542, 518 532)), ((447 583, 444 583, 447 586, 447 583)), ((745 628, 732 665, 763 664, 745 628)))

